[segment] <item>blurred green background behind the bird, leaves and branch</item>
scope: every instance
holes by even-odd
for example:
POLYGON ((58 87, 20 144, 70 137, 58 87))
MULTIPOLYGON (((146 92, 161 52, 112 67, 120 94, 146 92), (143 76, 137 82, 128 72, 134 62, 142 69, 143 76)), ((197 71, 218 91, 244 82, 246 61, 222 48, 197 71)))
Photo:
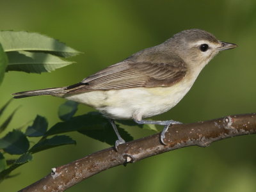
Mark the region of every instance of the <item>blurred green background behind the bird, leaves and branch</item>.
MULTIPOLYGON (((24 90, 67 86, 132 53, 160 44, 190 28, 210 31, 236 49, 221 52, 202 71, 191 91, 172 110, 155 116, 189 123, 225 115, 256 112, 256 1, 0 1, 0 29, 28 30, 58 38, 84 54, 74 65, 52 73, 8 72, 0 87, 0 106, 10 94, 24 90)), ((22 106, 8 132, 47 117, 58 122, 58 106, 65 100, 29 97, 14 100, 11 113, 22 106)), ((77 114, 95 109, 79 106, 77 114)), ((8 113, 6 113, 6 116, 8 113)), ((134 138, 153 132, 127 129, 134 138)), ((113 132, 114 134, 114 132, 113 132)), ((47 175, 52 167, 69 163, 109 147, 79 133, 77 145, 35 154, 31 163, 4 180, 0 191, 17 191, 47 175)), ((127 167, 111 168, 67 191, 256 191, 256 136, 240 136, 150 157, 127 167)))

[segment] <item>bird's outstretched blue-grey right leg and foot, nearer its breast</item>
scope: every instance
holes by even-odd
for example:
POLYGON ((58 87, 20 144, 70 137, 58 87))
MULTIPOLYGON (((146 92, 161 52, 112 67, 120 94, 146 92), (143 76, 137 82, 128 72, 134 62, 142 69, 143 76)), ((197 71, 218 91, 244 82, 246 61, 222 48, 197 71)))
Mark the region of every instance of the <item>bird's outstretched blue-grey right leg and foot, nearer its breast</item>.
POLYGON ((161 136, 160 136, 160 140, 161 142, 166 145, 166 143, 164 143, 164 138, 165 138, 165 133, 168 131, 168 128, 170 125, 173 124, 182 124, 181 122, 176 122, 173 120, 166 120, 166 121, 153 121, 153 120, 134 120, 134 122, 136 122, 137 124, 156 124, 156 125, 164 125, 164 129, 161 132, 161 136))

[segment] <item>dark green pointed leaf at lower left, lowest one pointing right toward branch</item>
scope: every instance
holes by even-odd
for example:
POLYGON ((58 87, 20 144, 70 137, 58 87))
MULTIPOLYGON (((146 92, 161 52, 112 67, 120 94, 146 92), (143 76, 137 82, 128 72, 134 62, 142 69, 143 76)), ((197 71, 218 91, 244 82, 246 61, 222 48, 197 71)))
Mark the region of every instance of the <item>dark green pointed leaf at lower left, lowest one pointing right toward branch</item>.
POLYGON ((76 141, 72 140, 69 136, 60 135, 54 136, 50 139, 41 140, 34 145, 29 152, 35 153, 48 148, 58 147, 61 145, 76 144, 76 141))

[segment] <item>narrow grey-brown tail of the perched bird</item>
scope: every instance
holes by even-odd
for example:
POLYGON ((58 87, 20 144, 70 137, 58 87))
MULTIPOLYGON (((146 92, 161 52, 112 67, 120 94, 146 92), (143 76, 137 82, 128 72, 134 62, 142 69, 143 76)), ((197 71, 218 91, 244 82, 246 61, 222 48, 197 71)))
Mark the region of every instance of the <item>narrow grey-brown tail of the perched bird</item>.
POLYGON ((13 98, 19 99, 24 97, 38 96, 38 95, 53 95, 53 96, 61 97, 63 94, 65 94, 65 87, 48 88, 43 90, 32 90, 28 92, 13 93, 12 95, 13 95, 13 98))

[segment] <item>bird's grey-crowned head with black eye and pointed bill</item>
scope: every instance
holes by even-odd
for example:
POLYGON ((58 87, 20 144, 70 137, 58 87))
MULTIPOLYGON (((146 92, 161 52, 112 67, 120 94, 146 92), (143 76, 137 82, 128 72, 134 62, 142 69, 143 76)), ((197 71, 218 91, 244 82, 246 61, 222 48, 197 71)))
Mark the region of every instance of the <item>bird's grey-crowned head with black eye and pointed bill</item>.
POLYGON ((164 42, 172 47, 188 65, 204 67, 218 52, 233 49, 236 44, 221 42, 214 35, 201 29, 189 29, 173 35, 164 42))

